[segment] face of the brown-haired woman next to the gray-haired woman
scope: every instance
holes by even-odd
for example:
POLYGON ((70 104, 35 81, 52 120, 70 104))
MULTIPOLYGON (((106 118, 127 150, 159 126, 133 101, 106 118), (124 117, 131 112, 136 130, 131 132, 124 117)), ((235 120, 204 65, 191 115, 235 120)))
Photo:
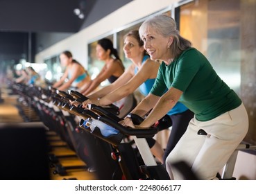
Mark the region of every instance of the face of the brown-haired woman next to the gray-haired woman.
POLYGON ((123 51, 126 58, 133 59, 144 53, 144 47, 139 46, 139 42, 133 36, 127 36, 123 42, 123 51))

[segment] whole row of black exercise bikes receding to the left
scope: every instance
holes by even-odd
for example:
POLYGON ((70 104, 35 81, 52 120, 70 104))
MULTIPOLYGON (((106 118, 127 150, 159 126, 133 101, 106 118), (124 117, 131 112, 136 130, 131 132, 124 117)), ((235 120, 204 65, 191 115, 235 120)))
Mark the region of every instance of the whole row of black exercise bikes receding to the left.
MULTIPOLYGON (((97 179, 170 179, 164 165, 158 163, 152 155, 146 138, 152 138, 167 123, 135 129, 124 127, 119 122, 119 107, 89 105, 83 108, 86 96, 78 91, 59 91, 53 87, 42 88, 35 85, 12 85, 19 94, 19 100, 31 106, 40 117, 40 121, 60 136, 71 150, 85 163, 85 166, 64 167, 58 163, 58 157, 49 155, 55 174, 67 175, 68 169, 93 168, 97 179), (22 100, 21 100, 22 99, 22 100), (78 106, 71 101, 78 102, 78 106)), ((133 123, 139 124, 143 118, 131 114, 133 123)), ((239 150, 254 149, 255 146, 241 143, 223 168, 219 179, 235 179, 232 177, 234 164, 239 150)), ((61 156, 61 157, 70 157, 61 156)), ((180 170, 184 179, 198 179, 183 161, 173 164, 180 170)))

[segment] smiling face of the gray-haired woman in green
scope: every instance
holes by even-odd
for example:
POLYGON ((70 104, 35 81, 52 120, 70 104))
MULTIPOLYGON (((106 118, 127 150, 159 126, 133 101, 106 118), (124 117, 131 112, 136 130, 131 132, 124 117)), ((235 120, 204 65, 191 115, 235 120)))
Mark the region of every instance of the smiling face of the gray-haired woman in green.
POLYGON ((151 56, 151 60, 168 61, 171 58, 168 46, 171 45, 171 37, 164 37, 148 26, 142 33, 144 48, 151 56))

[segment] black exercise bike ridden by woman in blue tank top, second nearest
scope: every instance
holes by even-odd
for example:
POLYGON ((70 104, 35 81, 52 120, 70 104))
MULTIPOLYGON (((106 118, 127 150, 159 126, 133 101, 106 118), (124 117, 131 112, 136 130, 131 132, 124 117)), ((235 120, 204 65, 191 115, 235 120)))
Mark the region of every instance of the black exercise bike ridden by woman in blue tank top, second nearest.
MULTIPOLYGON (((76 100, 77 102, 83 103, 83 101, 87 98, 77 91, 71 90, 69 90, 68 93, 65 91, 57 90, 56 93, 58 93, 62 99, 60 109, 80 119, 81 113, 84 109, 78 109, 76 107, 75 110, 75 107, 71 106, 70 100, 76 100)), ((119 113, 119 108, 114 105, 109 105, 108 107, 105 107, 105 109, 108 109, 108 111, 113 115, 119 113)), ((76 125, 78 125, 78 123, 76 123, 76 125)), ((112 179, 113 172, 118 167, 118 164, 116 161, 111 159, 111 155, 108 155, 110 152, 110 145, 105 143, 105 141, 92 136, 92 134, 78 132, 78 127, 76 127, 74 136, 78 136, 78 139, 76 139, 78 155, 83 155, 81 150, 83 151, 86 149, 87 155, 89 157, 89 166, 95 168, 96 177, 98 179, 112 179)))

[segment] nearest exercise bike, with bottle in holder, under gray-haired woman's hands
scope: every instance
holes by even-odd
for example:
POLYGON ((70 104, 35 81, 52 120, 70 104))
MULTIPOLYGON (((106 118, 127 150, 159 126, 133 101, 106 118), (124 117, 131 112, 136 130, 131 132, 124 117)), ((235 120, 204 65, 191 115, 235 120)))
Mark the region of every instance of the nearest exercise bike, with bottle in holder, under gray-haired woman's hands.
MULTIPOLYGON (((155 161, 145 139, 147 137, 153 137, 158 132, 157 128, 133 129, 124 127, 119 124, 122 118, 114 116, 103 107, 90 105, 89 108, 85 109, 81 114, 79 108, 71 107, 73 111, 77 110, 77 113, 81 117, 84 117, 80 120, 79 125, 81 129, 112 145, 112 158, 117 159, 119 162, 124 179, 169 179, 164 166, 157 164, 155 161), (93 129, 87 118, 97 121, 93 129), (110 129, 114 130, 113 134, 110 129), (106 130, 110 130, 110 134, 105 135, 106 130), (125 142, 126 136, 133 136, 143 164, 139 164, 133 148, 129 143, 125 142), (128 150, 132 151, 128 153, 128 150)), ((142 121, 142 118, 136 115, 133 115, 132 119, 135 123, 142 121)))

